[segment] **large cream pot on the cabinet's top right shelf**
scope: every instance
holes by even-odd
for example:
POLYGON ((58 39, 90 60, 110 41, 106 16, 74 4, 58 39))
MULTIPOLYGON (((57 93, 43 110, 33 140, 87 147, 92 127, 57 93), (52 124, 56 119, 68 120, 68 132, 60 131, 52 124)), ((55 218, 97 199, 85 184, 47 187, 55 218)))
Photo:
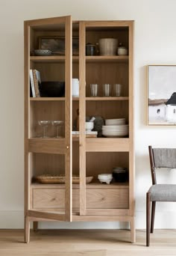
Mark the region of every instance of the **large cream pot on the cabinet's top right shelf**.
POLYGON ((118 40, 115 38, 101 38, 99 40, 100 55, 116 55, 118 40))

